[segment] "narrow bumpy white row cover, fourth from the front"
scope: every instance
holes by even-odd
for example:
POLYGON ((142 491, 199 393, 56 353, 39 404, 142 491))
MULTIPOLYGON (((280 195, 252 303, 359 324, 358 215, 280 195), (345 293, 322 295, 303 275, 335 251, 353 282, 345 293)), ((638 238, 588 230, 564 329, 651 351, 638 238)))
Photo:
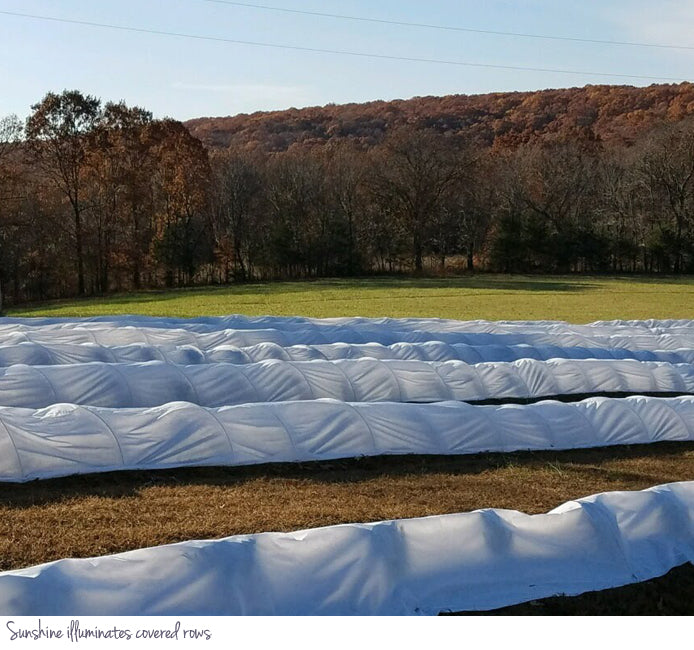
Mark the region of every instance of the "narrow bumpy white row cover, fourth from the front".
POLYGON ((106 346, 96 343, 23 342, 0 345, 0 367, 73 363, 138 363, 167 361, 191 365, 198 363, 254 363, 269 359, 311 361, 316 359, 416 359, 419 361, 516 361, 517 359, 637 359, 668 363, 694 363, 694 348, 677 350, 630 350, 628 348, 558 347, 554 345, 468 345, 466 343, 326 343, 292 345, 257 343, 248 347, 221 345, 201 350, 193 345, 131 344, 106 346))

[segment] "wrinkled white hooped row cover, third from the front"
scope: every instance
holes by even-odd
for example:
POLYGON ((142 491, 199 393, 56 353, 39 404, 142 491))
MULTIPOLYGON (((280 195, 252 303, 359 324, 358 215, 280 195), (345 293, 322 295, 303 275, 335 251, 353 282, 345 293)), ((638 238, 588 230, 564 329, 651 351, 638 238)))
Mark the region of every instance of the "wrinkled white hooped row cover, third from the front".
POLYGON ((614 359, 462 361, 161 361, 0 368, 0 405, 226 406, 330 398, 344 402, 528 399, 598 393, 694 393, 694 365, 614 359))

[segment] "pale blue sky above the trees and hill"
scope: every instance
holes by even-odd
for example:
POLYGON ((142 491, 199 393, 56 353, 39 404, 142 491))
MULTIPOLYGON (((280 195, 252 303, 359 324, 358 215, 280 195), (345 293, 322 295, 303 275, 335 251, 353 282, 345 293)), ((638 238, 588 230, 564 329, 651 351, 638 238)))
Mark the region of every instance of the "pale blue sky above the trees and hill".
POLYGON ((209 0, 0 0, 0 116, 79 89, 178 119, 256 110, 694 77, 692 0, 258 0, 285 9, 663 49, 424 29, 209 0), (49 22, 1 12, 317 49, 595 74, 371 59, 49 22))

